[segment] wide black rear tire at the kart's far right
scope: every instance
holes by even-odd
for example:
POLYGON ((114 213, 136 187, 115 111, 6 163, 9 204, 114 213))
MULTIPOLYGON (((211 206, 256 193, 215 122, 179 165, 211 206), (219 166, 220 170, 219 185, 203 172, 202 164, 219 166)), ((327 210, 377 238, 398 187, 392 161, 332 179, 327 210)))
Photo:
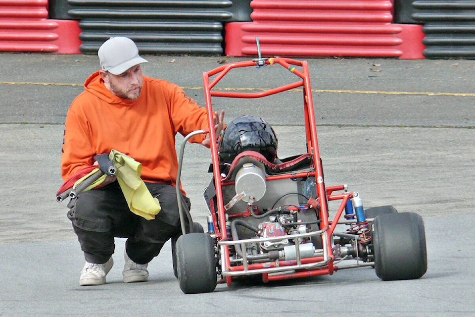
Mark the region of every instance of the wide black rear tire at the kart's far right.
POLYGON ((419 214, 383 214, 372 227, 376 275, 381 280, 414 279, 426 273, 426 234, 419 214))

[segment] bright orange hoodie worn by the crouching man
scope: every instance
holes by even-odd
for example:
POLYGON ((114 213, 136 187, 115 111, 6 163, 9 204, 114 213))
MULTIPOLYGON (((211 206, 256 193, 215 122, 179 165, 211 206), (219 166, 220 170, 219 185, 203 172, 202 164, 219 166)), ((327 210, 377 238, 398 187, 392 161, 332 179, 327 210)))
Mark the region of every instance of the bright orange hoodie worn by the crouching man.
MULTIPOLYGON (((114 149, 142 163, 143 181, 175 185, 175 135, 208 129, 206 109, 177 85, 146 76, 140 97, 133 101, 109 92, 98 71, 84 87, 66 116, 61 150, 63 180, 92 165, 96 154, 114 149)), ((200 143, 204 137, 194 136, 190 142, 200 143)))

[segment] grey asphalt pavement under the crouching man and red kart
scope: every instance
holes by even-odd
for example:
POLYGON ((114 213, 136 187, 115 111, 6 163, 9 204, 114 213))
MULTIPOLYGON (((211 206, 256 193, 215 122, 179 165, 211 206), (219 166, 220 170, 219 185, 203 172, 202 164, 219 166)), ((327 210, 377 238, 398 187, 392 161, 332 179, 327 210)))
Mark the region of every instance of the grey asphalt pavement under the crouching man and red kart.
MULTIPOLYGON (((144 56, 143 71, 184 87, 204 105, 202 73, 226 56, 144 56)), ((327 185, 346 183, 365 208, 393 205, 421 214, 428 269, 421 279, 381 282, 371 268, 279 283, 217 286, 185 295, 170 246, 150 263, 146 283, 121 281, 123 239, 107 284, 79 287, 84 264, 55 201, 63 125, 95 55, 0 54, 0 316, 475 316, 475 61, 318 58, 309 63, 327 185)), ((259 91, 289 72, 267 66, 233 73, 222 88, 259 91)), ((291 74, 290 74, 291 75, 291 74)), ((217 100, 226 120, 264 117, 279 156, 304 149, 299 91, 269 100, 217 100)), ((183 138, 177 137, 177 147, 183 138)), ((188 145, 183 185, 195 221, 211 175, 209 151, 188 145)))

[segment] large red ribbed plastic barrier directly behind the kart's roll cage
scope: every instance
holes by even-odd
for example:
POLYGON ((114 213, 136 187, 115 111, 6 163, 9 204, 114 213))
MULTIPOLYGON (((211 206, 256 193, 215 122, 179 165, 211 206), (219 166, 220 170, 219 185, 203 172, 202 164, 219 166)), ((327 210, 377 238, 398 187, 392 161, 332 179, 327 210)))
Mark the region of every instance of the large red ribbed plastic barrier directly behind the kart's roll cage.
POLYGON ((424 58, 421 25, 392 24, 391 0, 253 0, 252 22, 229 23, 225 53, 424 58))

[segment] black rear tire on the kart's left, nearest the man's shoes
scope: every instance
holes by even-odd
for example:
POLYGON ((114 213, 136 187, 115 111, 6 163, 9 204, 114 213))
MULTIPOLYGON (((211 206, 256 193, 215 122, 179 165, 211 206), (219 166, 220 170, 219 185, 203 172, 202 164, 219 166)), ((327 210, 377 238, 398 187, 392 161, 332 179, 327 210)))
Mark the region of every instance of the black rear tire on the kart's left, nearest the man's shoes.
POLYGON ((177 273, 185 294, 208 293, 217 284, 214 243, 207 233, 182 235, 176 244, 177 273))

